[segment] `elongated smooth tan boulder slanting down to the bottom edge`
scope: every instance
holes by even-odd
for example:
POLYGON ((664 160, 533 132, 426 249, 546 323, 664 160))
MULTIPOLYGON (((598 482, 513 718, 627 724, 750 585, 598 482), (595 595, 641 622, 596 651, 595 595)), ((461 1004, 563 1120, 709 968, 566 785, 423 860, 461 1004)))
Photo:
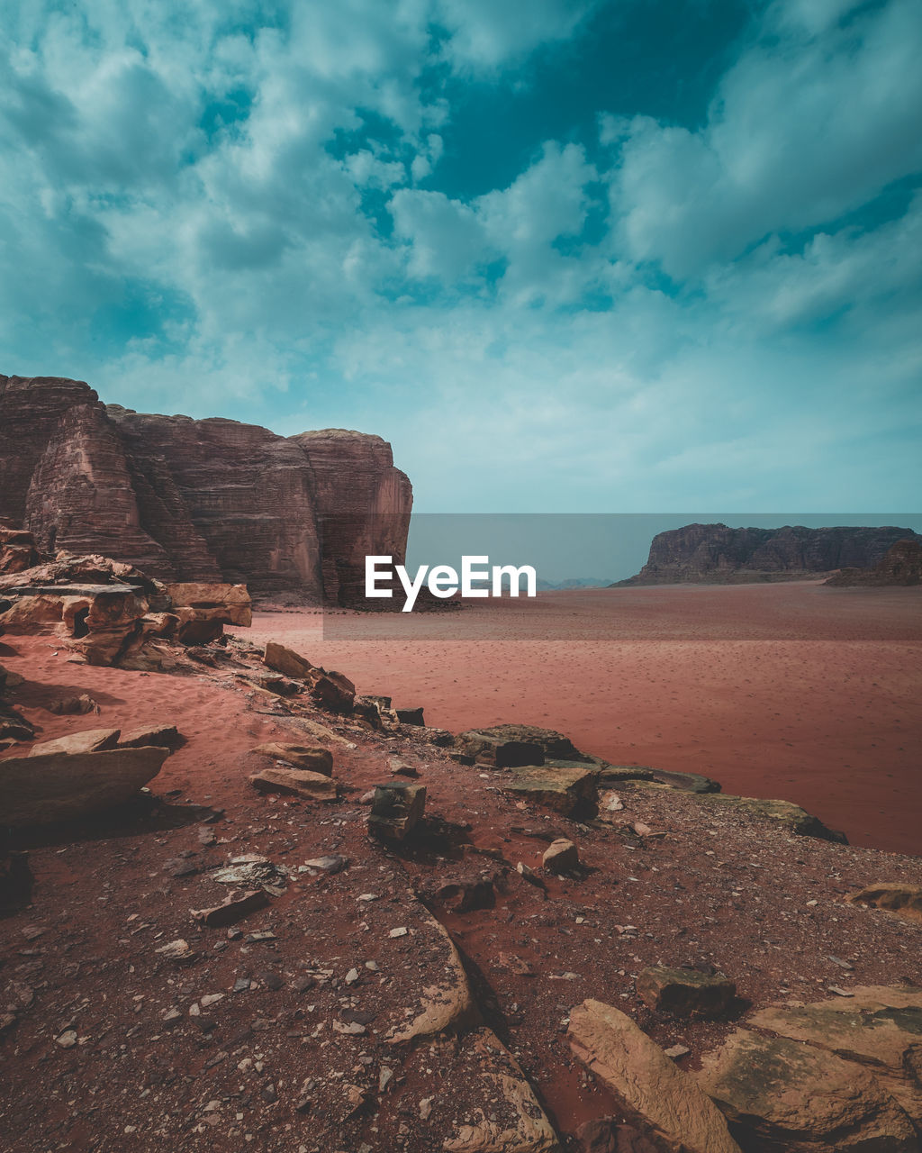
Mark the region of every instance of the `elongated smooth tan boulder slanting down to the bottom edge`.
POLYGON ((584 1001, 569 1017, 570 1049, 632 1124, 671 1153, 740 1153, 720 1110, 628 1017, 584 1001))

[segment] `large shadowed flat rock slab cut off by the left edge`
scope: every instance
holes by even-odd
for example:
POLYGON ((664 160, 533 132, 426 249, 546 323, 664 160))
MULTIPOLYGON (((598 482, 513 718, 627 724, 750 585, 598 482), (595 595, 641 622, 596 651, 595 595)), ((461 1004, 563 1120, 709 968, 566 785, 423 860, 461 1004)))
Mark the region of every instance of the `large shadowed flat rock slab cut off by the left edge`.
POLYGON ((165 748, 45 753, 0 761, 0 813, 13 827, 69 821, 129 800, 157 776, 165 748))

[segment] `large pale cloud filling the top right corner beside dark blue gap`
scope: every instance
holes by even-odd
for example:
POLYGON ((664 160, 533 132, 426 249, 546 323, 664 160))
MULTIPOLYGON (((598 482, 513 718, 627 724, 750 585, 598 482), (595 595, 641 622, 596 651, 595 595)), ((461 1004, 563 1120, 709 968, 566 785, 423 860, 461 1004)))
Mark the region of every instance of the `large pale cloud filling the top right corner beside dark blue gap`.
MULTIPOLYGON (((625 255, 685 279, 772 233, 832 223, 919 171, 922 9, 894 0, 815 35, 847 7, 772 9, 701 129, 647 116, 620 125, 610 181, 625 255), (813 14, 809 30, 795 13, 813 14)), ((603 138, 618 128, 605 121, 603 138)))

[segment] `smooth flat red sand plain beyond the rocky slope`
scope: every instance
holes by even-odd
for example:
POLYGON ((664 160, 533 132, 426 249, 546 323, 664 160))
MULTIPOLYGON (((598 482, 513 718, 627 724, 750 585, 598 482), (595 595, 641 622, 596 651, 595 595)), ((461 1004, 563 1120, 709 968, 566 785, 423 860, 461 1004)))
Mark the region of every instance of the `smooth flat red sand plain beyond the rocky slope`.
POLYGON ((258 613, 241 635, 423 704, 431 725, 559 729, 617 763, 796 801, 853 844, 922 852, 922 589, 549 593, 409 621, 258 613))

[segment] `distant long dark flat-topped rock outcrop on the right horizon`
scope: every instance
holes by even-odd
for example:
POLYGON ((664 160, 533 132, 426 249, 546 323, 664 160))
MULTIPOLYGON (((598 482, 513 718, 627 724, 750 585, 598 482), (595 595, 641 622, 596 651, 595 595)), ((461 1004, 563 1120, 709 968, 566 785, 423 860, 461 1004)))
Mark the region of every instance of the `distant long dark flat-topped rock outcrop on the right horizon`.
POLYGON ((727 528, 686 525, 658 533, 641 571, 617 586, 743 585, 806 580, 846 566, 871 568, 898 541, 922 542, 908 528, 727 528))

